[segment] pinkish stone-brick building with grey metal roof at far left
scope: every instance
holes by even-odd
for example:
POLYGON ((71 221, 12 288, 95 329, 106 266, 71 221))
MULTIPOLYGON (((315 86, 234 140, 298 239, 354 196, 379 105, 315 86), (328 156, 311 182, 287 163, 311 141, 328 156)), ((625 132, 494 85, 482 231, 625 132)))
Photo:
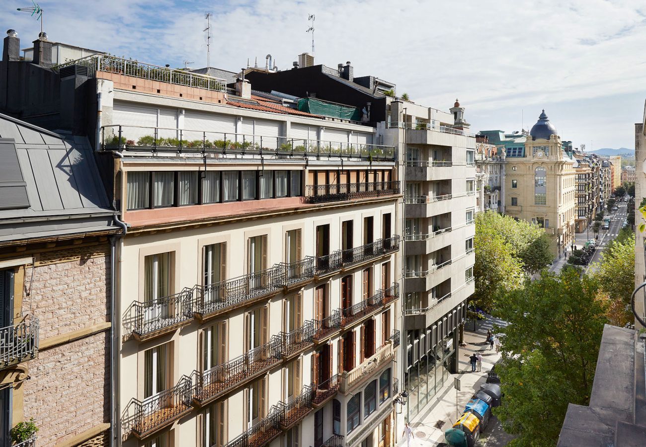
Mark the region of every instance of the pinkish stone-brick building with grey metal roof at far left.
POLYGON ((20 446, 109 445, 111 248, 122 230, 92 152, 87 138, 0 114, 3 446, 32 419, 37 440, 20 446))

